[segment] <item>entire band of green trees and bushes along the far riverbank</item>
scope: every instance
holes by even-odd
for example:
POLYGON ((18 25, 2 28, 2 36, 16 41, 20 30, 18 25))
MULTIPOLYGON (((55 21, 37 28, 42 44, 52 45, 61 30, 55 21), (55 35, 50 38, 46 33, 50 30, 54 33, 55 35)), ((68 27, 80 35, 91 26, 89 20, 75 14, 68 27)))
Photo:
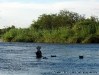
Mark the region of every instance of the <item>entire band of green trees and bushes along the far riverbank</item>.
POLYGON ((85 18, 78 13, 61 10, 58 14, 40 15, 29 28, 12 26, 1 33, 5 42, 99 43, 98 32, 97 17, 85 18))

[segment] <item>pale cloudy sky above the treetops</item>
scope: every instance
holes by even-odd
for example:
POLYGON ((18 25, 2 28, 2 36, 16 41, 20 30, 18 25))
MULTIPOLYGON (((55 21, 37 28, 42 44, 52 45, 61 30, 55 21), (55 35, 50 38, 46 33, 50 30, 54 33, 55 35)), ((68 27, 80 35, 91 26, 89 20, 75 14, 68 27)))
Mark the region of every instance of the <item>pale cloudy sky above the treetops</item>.
POLYGON ((0 29, 12 25, 27 28, 40 15, 64 9, 99 17, 99 0, 0 0, 0 29))

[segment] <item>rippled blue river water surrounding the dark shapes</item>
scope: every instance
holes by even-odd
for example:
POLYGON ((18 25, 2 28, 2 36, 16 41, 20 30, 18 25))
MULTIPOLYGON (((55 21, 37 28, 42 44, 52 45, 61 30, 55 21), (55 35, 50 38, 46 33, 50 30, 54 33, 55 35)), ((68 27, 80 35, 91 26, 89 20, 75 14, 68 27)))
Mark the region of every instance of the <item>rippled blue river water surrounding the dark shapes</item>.
POLYGON ((99 44, 0 42, 0 75, 99 75, 99 44))

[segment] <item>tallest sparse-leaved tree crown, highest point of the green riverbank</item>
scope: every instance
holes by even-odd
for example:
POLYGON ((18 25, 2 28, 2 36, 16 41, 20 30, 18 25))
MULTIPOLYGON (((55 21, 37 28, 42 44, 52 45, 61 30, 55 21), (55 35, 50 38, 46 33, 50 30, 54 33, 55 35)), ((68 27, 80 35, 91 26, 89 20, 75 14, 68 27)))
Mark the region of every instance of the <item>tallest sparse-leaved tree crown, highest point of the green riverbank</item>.
POLYGON ((84 15, 81 16, 78 13, 70 12, 68 10, 61 10, 58 16, 61 17, 61 23, 63 26, 72 27, 76 22, 85 20, 84 15))

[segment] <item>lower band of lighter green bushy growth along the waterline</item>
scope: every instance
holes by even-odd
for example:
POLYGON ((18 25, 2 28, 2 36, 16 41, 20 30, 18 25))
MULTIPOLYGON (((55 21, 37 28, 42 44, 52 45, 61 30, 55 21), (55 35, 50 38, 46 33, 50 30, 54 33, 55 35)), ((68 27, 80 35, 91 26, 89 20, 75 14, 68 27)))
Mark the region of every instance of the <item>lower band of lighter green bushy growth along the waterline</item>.
POLYGON ((51 30, 11 29, 3 35, 3 40, 7 42, 89 43, 95 38, 98 39, 98 32, 99 26, 92 29, 89 25, 51 30))

